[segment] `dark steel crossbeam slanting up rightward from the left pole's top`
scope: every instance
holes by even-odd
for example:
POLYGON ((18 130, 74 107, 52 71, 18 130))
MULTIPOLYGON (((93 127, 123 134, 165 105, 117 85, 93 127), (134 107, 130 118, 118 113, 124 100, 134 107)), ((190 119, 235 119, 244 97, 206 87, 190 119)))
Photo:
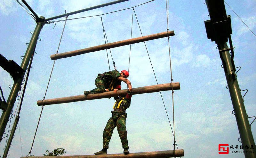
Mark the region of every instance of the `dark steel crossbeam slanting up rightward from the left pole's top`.
MULTIPOLYGON (((81 12, 84 12, 84 11, 90 11, 90 10, 93 10, 93 9, 97 9, 97 8, 105 7, 105 6, 112 5, 112 4, 117 4, 117 3, 125 2, 125 1, 129 1, 129 0, 117 0, 117 1, 114 1, 114 2, 100 4, 100 5, 97 5, 97 6, 94 6, 94 7, 90 7, 90 8, 86 8, 86 9, 82 9, 82 10, 79 10, 79 11, 73 11, 73 12, 70 12, 70 13, 67 13, 67 14, 68 15, 73 15, 73 14, 81 13, 81 12)), ((62 14, 62 15, 59 15, 59 16, 56 16, 56 17, 47 18, 46 21, 57 19, 57 18, 66 17, 67 14, 62 14)))

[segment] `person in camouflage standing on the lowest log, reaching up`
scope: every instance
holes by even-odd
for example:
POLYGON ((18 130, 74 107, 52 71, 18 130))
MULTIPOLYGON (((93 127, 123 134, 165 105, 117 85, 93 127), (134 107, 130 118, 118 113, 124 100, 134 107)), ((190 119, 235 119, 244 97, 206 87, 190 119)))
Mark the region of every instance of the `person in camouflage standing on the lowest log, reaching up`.
POLYGON ((114 98, 116 99, 116 103, 113 106, 114 110, 111 111, 112 117, 110 117, 110 119, 108 120, 102 135, 103 148, 101 151, 94 153, 96 155, 107 154, 108 144, 115 127, 117 127, 117 131, 124 148, 124 154, 129 154, 127 131, 125 126, 125 120, 126 120, 127 114, 125 110, 130 107, 132 91, 127 90, 127 94, 125 97, 123 96, 123 97, 114 97, 114 98))

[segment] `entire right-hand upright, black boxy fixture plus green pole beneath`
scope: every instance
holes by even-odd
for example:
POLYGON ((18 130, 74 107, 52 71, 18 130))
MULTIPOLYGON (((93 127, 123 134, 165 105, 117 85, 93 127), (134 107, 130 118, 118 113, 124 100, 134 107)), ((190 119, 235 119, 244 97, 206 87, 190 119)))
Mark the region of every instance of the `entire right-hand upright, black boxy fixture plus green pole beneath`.
POLYGON ((236 79, 236 68, 234 64, 234 47, 231 41, 231 20, 227 16, 223 0, 206 0, 206 5, 210 14, 210 20, 204 22, 208 39, 215 41, 218 45, 220 59, 223 64, 228 90, 233 104, 236 123, 244 146, 244 155, 246 158, 256 158, 255 151, 246 146, 255 147, 252 136, 251 126, 244 107, 244 99, 236 79), (227 45, 229 41, 229 46, 227 45), (231 55, 229 53, 231 51, 231 55))

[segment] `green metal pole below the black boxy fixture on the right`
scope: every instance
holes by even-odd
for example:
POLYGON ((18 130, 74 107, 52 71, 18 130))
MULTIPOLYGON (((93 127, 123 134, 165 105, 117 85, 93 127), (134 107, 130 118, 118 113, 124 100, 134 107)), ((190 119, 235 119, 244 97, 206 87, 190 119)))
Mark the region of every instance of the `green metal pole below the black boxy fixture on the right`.
MULTIPOLYGON (((219 50, 227 49, 226 42, 218 43, 219 50)), ((244 100, 236 79, 236 73, 234 71, 234 67, 232 66, 231 57, 229 51, 220 51, 220 58, 222 60, 222 64, 224 67, 228 89, 231 97, 231 101, 233 104, 236 123, 238 126, 238 131, 241 137, 242 145, 244 147, 244 155, 246 158, 256 158, 255 149, 250 149, 251 146, 255 148, 255 143, 252 136, 251 127, 249 124, 248 116, 244 107, 244 100), (245 147, 249 146, 248 149, 245 147)))

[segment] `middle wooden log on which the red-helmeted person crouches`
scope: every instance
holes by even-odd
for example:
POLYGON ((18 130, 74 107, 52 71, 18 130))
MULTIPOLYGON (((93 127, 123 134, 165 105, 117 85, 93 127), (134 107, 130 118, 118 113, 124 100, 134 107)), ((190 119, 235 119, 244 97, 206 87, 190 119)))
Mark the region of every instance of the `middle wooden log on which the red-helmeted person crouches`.
MULTIPOLYGON (((152 92, 159 92, 165 90, 180 90, 180 83, 164 83, 152 86, 145 86, 145 87, 138 87, 133 88, 133 94, 142 94, 142 93, 152 93, 152 92)), ((78 96, 71 96, 71 97, 61 97, 61 98, 54 98, 54 99, 46 99, 46 100, 38 100, 37 105, 51 105, 51 104, 61 104, 61 103, 70 103, 70 102, 78 102, 83 100, 92 100, 92 99, 101 99, 101 98, 108 98, 108 97, 116 97, 116 96, 123 96, 126 94, 126 90, 118 90, 116 93, 113 91, 103 92, 103 93, 96 93, 96 94, 88 94, 86 95, 78 95, 78 96)))

